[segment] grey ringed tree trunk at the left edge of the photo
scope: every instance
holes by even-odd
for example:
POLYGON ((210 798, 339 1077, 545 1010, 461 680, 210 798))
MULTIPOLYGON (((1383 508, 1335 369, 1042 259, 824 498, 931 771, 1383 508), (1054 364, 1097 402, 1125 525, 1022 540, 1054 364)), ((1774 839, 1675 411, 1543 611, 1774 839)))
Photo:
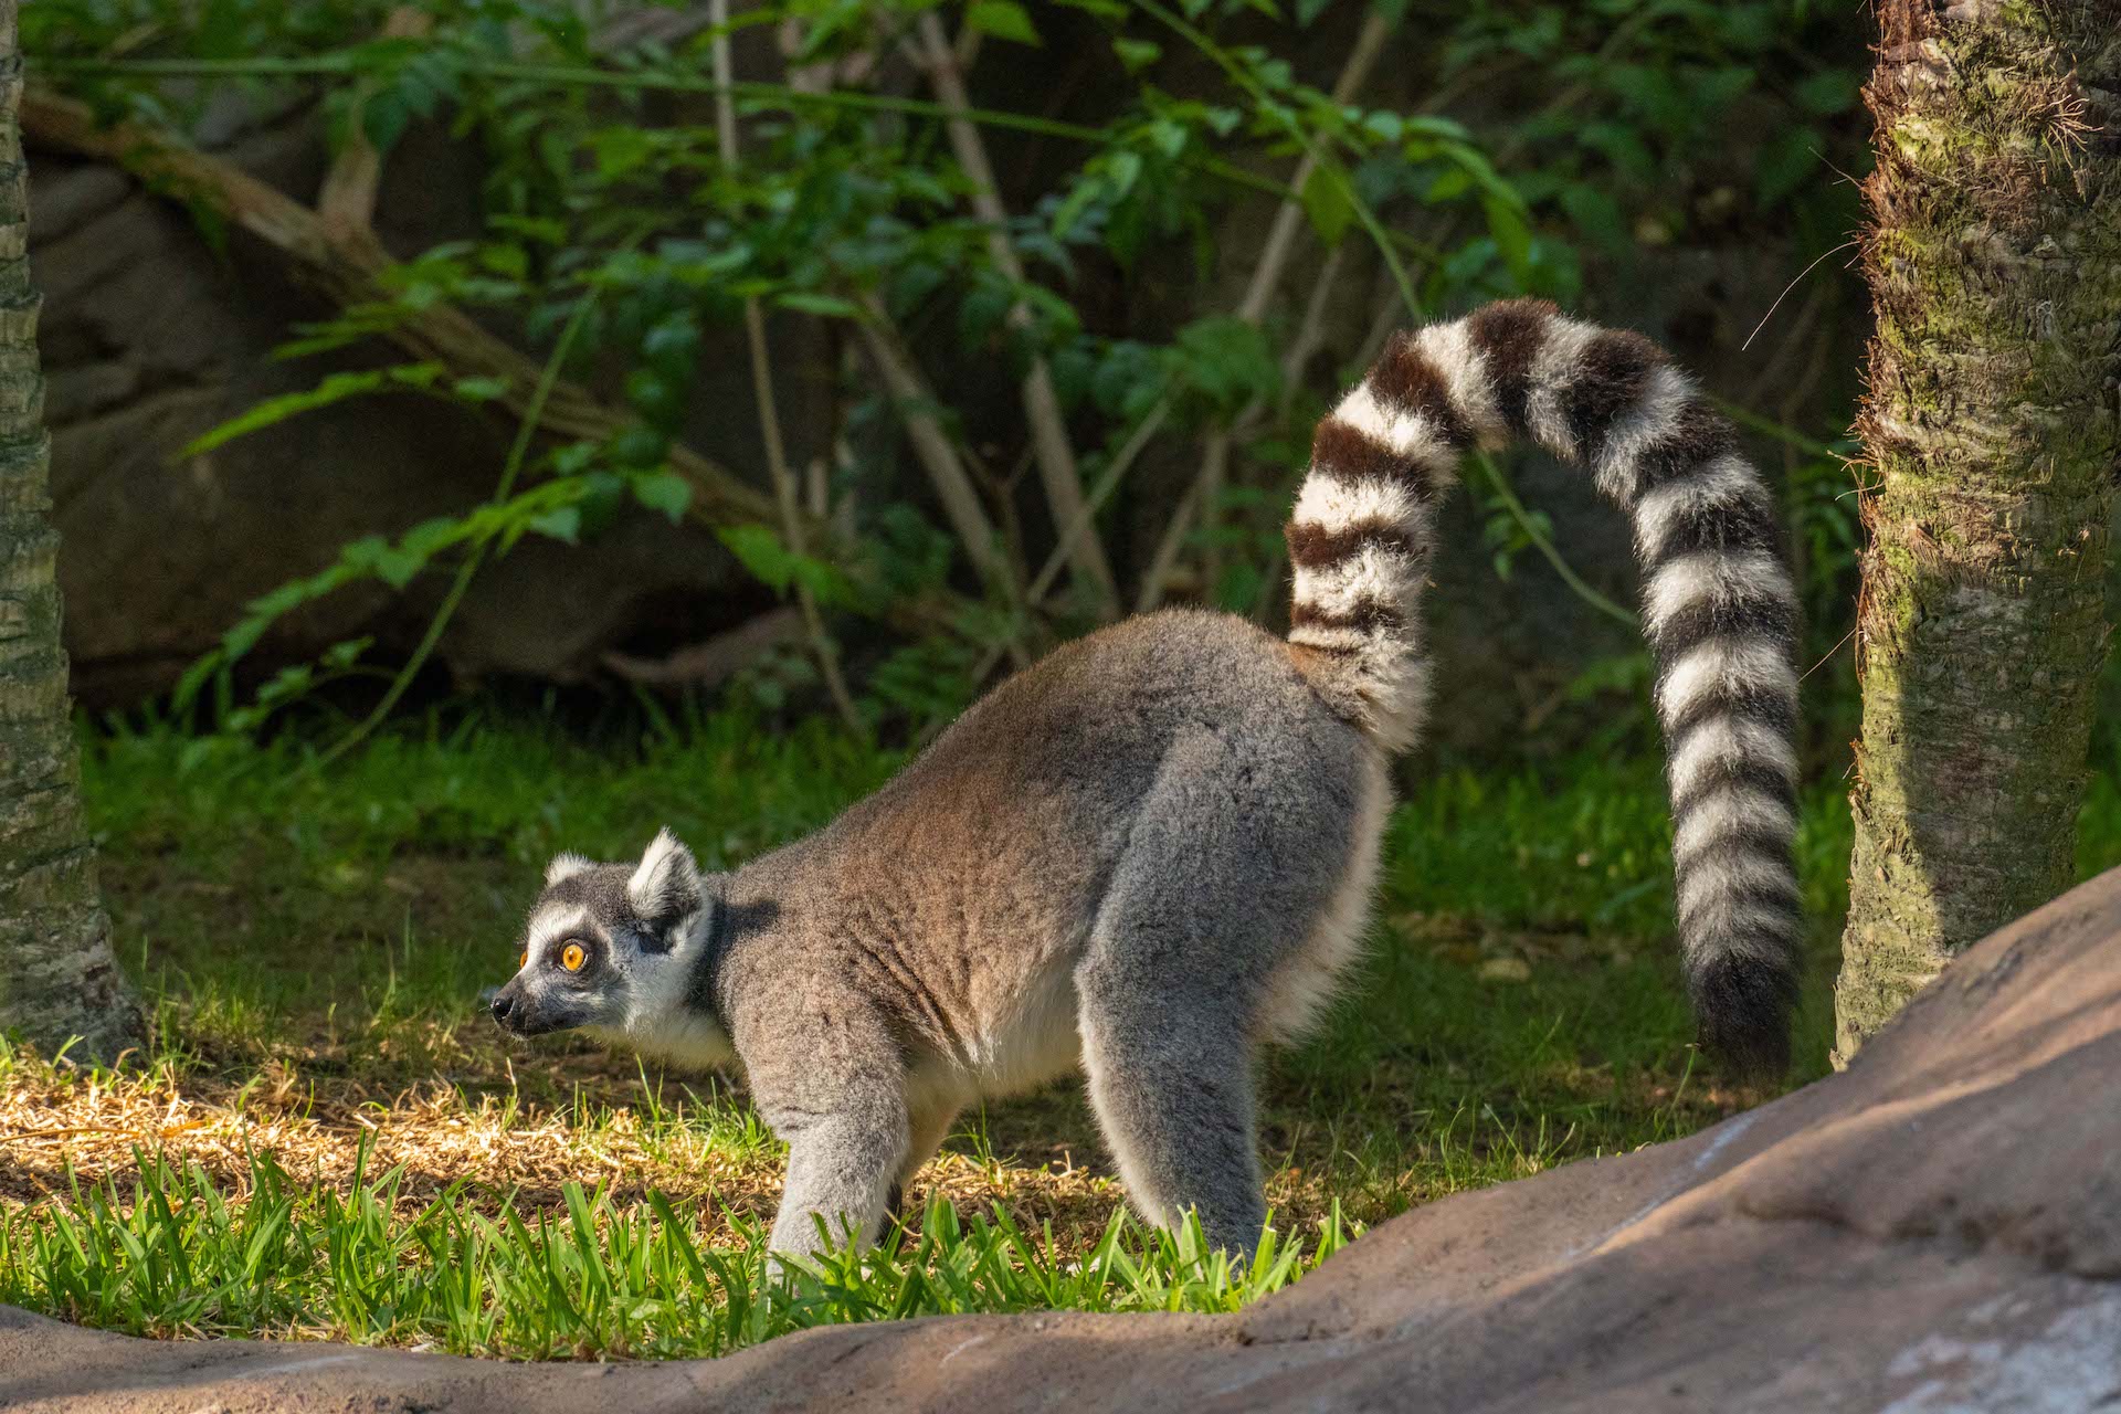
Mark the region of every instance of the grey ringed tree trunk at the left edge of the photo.
POLYGON ((19 100, 15 0, 0 0, 0 1028, 115 1060, 140 1041, 140 1007, 110 956, 81 823, 19 100))

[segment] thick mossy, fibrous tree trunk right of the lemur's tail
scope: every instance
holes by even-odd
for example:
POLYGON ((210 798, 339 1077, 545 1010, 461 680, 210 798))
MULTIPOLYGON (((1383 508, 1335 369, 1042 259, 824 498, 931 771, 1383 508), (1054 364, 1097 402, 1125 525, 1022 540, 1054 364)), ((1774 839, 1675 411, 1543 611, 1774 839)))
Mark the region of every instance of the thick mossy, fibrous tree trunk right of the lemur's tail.
POLYGON ((2072 880, 2121 375, 2121 0, 1881 0, 1845 1064, 2072 880))

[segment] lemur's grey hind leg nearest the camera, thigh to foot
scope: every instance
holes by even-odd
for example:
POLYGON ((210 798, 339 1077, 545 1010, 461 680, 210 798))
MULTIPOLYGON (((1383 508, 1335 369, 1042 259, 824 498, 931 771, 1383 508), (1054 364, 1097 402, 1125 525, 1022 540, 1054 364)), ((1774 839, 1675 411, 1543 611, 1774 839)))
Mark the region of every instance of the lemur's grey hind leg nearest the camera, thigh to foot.
POLYGON ((1347 871, 1357 759, 1245 733, 1169 748, 1075 969, 1090 1104, 1154 1223, 1196 1208, 1249 1255, 1266 1221, 1254 1045, 1347 871))

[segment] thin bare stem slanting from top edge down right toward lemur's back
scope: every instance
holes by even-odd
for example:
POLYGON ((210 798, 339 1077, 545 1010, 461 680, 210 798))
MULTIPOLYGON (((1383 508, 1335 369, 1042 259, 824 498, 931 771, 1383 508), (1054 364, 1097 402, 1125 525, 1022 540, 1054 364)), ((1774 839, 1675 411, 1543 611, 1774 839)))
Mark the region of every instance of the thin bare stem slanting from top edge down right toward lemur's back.
MULTIPOLYGON (((986 223, 986 250, 995 269, 1012 284, 1024 284, 1024 265, 1010 244, 1010 212, 1001 206, 1001 184, 995 167, 986 159, 986 142, 980 127, 965 117, 971 110, 971 95, 965 91, 965 74, 959 70, 959 55, 944 34, 935 11, 925 11, 918 19, 918 55, 935 89, 937 102, 950 112, 944 131, 950 136, 950 151, 957 165, 971 180, 971 210, 986 223)), ((1031 310, 1016 303, 1010 310, 1010 324, 1029 322, 1031 310)), ((1069 443, 1067 422, 1060 416, 1060 396, 1054 392, 1052 371, 1044 354, 1033 354, 1031 369, 1018 390, 1024 407, 1024 422, 1031 428, 1031 447, 1039 464, 1039 481, 1046 485, 1046 507, 1052 513, 1054 532, 1065 536, 1065 528, 1082 515, 1082 475, 1075 469, 1075 447, 1069 443)), ((1111 564, 1105 547, 1094 534, 1073 536, 1071 562, 1097 589, 1099 615, 1118 617, 1118 585, 1111 579, 1111 564)))

